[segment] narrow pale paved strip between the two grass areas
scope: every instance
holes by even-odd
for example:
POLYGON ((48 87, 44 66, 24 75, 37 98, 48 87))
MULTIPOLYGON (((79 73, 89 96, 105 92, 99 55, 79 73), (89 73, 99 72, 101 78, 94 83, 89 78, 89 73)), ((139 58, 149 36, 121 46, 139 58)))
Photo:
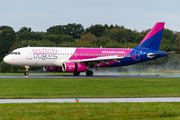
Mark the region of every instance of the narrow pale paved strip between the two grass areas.
MULTIPOLYGON (((0 99, 3 103, 75 103, 76 99, 0 99)), ((180 97, 173 98, 79 98, 80 103, 109 103, 109 102, 180 102, 180 97)))

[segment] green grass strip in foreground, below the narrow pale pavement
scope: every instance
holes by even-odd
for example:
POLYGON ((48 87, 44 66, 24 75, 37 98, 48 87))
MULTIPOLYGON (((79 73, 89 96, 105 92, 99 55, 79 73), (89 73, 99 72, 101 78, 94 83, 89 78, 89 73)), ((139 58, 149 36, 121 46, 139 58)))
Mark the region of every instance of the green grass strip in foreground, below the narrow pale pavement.
POLYGON ((179 103, 37 103, 0 104, 4 120, 177 120, 179 103))

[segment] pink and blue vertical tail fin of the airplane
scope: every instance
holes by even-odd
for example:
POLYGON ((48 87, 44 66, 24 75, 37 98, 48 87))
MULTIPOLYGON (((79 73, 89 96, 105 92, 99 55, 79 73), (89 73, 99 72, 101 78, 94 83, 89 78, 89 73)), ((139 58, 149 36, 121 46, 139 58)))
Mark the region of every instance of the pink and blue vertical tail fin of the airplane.
POLYGON ((136 48, 159 50, 165 22, 157 22, 136 48))

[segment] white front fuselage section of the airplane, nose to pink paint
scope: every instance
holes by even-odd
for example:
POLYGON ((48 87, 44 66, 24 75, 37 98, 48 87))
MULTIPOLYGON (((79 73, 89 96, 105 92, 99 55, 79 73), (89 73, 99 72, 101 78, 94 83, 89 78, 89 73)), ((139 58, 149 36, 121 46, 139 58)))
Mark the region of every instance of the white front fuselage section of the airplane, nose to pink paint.
POLYGON ((12 51, 4 61, 16 66, 62 66, 74 51, 75 48, 24 47, 12 51))

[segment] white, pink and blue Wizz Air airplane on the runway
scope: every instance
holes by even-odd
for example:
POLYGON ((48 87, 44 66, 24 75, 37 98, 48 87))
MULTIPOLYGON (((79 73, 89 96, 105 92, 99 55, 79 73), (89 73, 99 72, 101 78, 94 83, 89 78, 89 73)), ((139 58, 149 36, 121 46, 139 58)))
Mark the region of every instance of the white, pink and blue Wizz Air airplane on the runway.
POLYGON ((26 76, 29 66, 43 67, 48 72, 72 72, 79 76, 92 68, 119 67, 141 63, 167 56, 172 52, 159 51, 165 22, 157 22, 135 48, 73 48, 73 47, 23 47, 4 57, 4 62, 24 66, 26 76))

